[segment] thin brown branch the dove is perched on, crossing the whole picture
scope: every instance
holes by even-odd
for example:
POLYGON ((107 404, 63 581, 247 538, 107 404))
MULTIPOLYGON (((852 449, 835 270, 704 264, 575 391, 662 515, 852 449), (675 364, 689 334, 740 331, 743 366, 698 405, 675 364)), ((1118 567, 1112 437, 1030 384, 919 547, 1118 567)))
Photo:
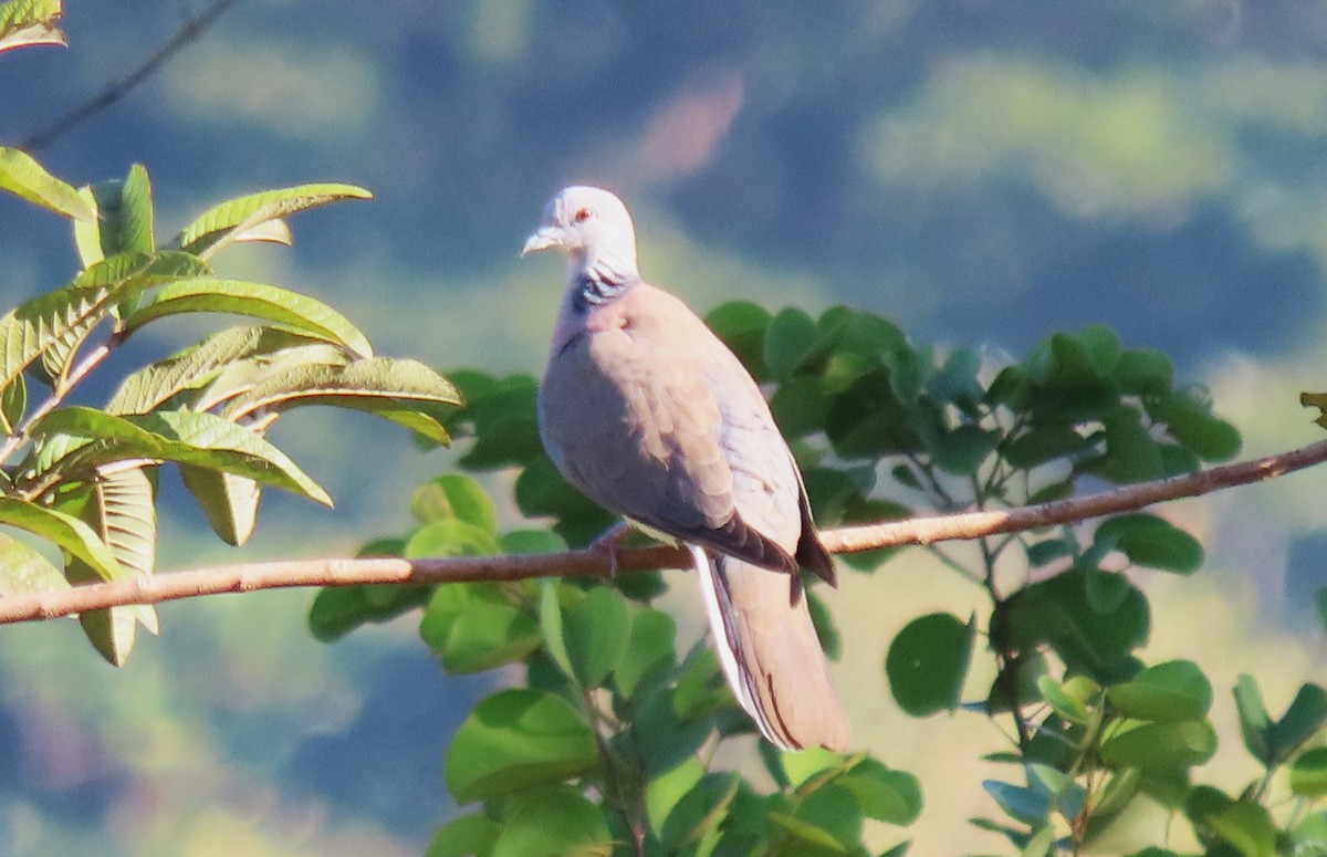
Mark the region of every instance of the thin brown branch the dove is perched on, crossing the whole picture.
MULTIPOLYGON (((977 539, 1052 524, 1070 524, 1116 512, 1129 512, 1165 500, 1193 497, 1233 486, 1275 479, 1324 460, 1327 460, 1327 440, 1320 440, 1290 452, 1213 467, 1184 476, 1125 486, 1085 497, 1024 505, 999 512, 965 512, 844 527, 825 531, 821 537, 825 547, 833 553, 855 553, 954 539, 977 539)), ((617 573, 665 568, 690 568, 690 556, 681 548, 665 545, 625 548, 617 552, 617 573)), ((0 624, 50 620, 100 608, 158 604, 226 592, 291 586, 352 586, 357 584, 447 584, 531 577, 608 577, 610 570, 609 555, 598 549, 435 560, 329 559, 248 562, 0 598, 0 624)))

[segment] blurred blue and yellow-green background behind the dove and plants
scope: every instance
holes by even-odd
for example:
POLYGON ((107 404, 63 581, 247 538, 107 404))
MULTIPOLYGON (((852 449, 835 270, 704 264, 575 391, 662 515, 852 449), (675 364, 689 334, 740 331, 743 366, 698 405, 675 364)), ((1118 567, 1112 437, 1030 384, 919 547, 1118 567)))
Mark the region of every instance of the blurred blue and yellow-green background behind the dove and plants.
MULTIPOLYGON (((0 143, 203 8, 66 0, 68 49, 0 54, 0 143)), ((1322 0, 242 0, 37 155, 74 183, 146 165, 159 239, 243 192, 372 188, 223 271, 307 291, 380 353, 443 370, 541 370, 561 267, 516 253, 545 199, 588 182, 632 206, 646 279, 698 310, 848 302, 993 360, 1107 322, 1210 386, 1245 455, 1320 436, 1298 393, 1327 389, 1322 0)), ((8 198, 0 260, 4 305, 77 269, 64 222, 8 198)), ((149 328, 125 365, 206 329, 149 328)), ((163 569, 353 552, 401 532, 411 488, 451 460, 345 411, 279 430, 337 509, 271 495, 228 551, 169 503, 163 569)), ((1259 673, 1274 714, 1327 679, 1308 606, 1327 582, 1322 486, 1311 471, 1165 511, 1209 548, 1197 578, 1145 580, 1164 617, 1149 657, 1193 658, 1217 686, 1205 777, 1254 772, 1239 671, 1283 666, 1259 673)), ((446 678, 413 617, 320 645, 312 597, 166 605, 163 639, 119 671, 69 622, 0 629, 0 853, 422 853, 454 809, 443 750, 488 679, 446 678)), ((999 849, 965 820, 989 809, 969 768, 1002 738, 962 714, 902 718, 881 669, 908 618, 978 593, 904 553, 829 598, 859 739, 924 773, 913 853, 999 849)))

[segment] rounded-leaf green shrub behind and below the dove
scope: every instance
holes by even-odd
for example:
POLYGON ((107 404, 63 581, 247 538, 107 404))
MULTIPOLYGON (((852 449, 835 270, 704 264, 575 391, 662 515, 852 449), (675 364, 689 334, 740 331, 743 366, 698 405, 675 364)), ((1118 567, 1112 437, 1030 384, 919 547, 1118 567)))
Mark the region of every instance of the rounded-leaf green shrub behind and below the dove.
MULTIPOLYGON (((993 366, 970 349, 914 345, 889 321, 841 306, 812 317, 735 302, 707 321, 770 390, 824 527, 1059 499, 1188 472, 1239 448, 1205 390, 1177 386, 1164 354, 1125 348, 1101 326, 1054 334, 1024 360, 993 366)), ((445 422, 462 443, 460 467, 511 474, 518 509, 548 528, 498 532, 479 484, 450 474, 417 492, 410 533, 373 549, 552 553, 612 524, 543 452, 532 378, 451 377, 467 401, 445 422)), ((1151 803, 1186 821, 1208 853, 1262 854, 1247 842, 1263 842, 1267 830, 1281 846, 1327 823, 1315 804, 1324 760, 1306 750, 1323 724, 1312 685, 1283 727, 1266 718, 1257 727, 1254 714, 1243 715, 1261 710, 1249 702, 1257 694, 1237 691, 1254 724, 1246 742, 1266 767, 1261 789, 1222 803, 1192 780, 1217 751, 1210 683, 1193 662, 1148 665, 1139 655, 1153 617, 1137 573, 1186 576, 1202 565, 1201 545, 1182 528, 1128 513, 983 539, 977 562, 926 549, 989 608, 909 622, 884 675, 913 716, 963 712, 1009 735, 1009 750, 991 760, 1016 773, 985 784, 998 817, 975 825, 1022 854, 1082 853, 1119 836, 1128 811, 1151 803), (990 666, 977 670, 982 661, 990 666), (970 677, 982 673, 995 678, 974 689, 970 677), (1285 769, 1295 809, 1277 815, 1267 784, 1285 769)), ((871 573, 890 555, 843 560, 871 573)), ((311 622, 334 637, 422 606, 421 635, 447 671, 524 669, 523 686, 480 702, 453 742, 447 787, 478 811, 443 826, 433 854, 861 854, 872 853, 864 821, 906 824, 917 815, 916 780, 861 754, 762 744, 772 789, 717 768, 715 748, 752 728, 713 653, 678 650, 673 620, 652 606, 665 586, 650 573, 612 586, 326 590, 311 622), (560 811, 537 809, 547 805, 560 811)), ((809 592, 835 654, 832 617, 809 592)), ((1161 845, 1139 848, 1168 854, 1161 845)))

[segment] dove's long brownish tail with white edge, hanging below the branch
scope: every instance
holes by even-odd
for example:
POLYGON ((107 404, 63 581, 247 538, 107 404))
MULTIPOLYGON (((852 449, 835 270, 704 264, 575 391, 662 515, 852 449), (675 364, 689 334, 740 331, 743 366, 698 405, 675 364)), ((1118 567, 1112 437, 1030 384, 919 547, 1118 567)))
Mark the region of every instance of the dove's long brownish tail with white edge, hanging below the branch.
POLYGON ((796 578, 691 547, 719 662, 776 747, 845 751, 848 715, 796 578))

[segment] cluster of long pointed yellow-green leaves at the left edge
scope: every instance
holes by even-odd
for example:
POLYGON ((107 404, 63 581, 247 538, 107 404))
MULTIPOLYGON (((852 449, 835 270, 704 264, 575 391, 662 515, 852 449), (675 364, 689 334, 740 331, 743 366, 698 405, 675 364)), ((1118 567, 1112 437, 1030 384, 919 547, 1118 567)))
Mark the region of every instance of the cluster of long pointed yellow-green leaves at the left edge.
MULTIPOLYGON (((0 50, 58 42, 57 1, 0 4, 0 50)), ((239 241, 289 241, 285 218, 368 199, 349 184, 305 184, 222 203, 158 241, 153 187, 139 165, 123 179, 74 187, 17 149, 0 147, 0 191, 66 218, 81 271, 0 317, 0 596, 151 574, 157 483, 175 464, 216 535, 243 544, 261 492, 332 499, 267 439, 287 411, 368 411, 446 443, 433 409, 456 389, 409 360, 376 357, 341 313, 265 283, 224 279, 212 259, 239 241), (101 407, 69 405, 76 387, 147 325, 190 313, 243 316, 199 342, 131 369, 101 407)), ((151 606, 84 613, 97 650, 122 665, 151 606)))

